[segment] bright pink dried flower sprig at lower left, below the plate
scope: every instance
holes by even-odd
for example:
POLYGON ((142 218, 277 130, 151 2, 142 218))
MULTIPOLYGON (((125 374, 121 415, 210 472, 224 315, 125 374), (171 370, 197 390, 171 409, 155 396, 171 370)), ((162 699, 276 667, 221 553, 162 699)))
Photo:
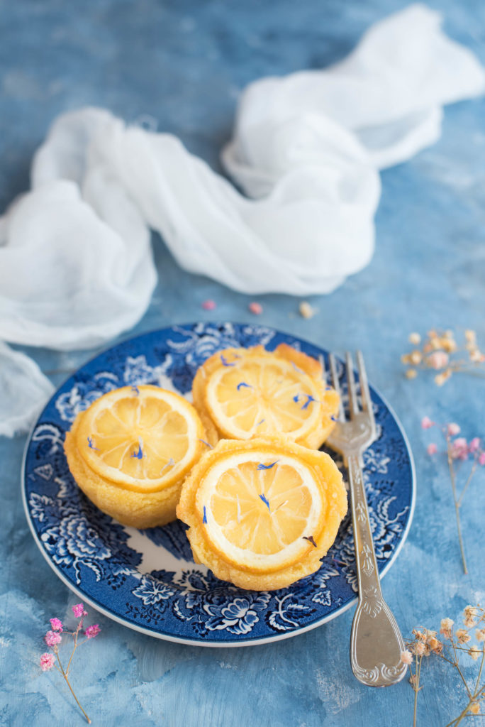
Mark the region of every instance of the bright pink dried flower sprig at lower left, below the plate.
POLYGON ((73 656, 76 648, 78 648, 78 646, 81 646, 82 643, 86 643, 86 641, 89 641, 91 638, 97 636, 101 629, 99 628, 99 624, 91 624, 91 626, 88 626, 86 630, 84 630, 85 638, 80 639, 79 637, 83 629, 84 617, 88 615, 88 612, 84 610, 84 606, 82 603, 76 603, 76 606, 73 606, 73 614, 74 616, 76 616, 76 619, 79 619, 76 629, 74 631, 66 631, 62 624, 62 621, 57 617, 50 619, 51 629, 44 636, 44 641, 46 642, 47 646, 49 646, 49 648, 52 648, 54 654, 51 654, 49 651, 46 651, 45 654, 42 654, 40 659, 40 666, 43 672, 47 672, 54 668, 57 669, 60 674, 62 674, 62 676, 65 678, 65 682, 70 689, 70 693, 73 695, 74 699, 76 699, 76 704, 78 705, 81 712, 83 712, 83 715, 86 718, 87 722, 91 724, 91 720, 89 719, 88 715, 86 715, 83 707, 81 707, 81 704, 76 694, 74 694, 73 687, 71 686, 71 683, 69 681, 69 670, 70 664, 73 661, 73 656), (62 638, 68 635, 73 638, 73 651, 69 657, 68 666, 64 668, 60 660, 59 647, 62 643, 62 638))

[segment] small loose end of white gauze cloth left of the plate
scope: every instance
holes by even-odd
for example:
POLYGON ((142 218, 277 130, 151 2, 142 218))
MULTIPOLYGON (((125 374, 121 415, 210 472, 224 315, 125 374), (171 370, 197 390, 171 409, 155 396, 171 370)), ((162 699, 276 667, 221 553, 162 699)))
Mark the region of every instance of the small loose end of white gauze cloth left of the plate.
POLYGON ((0 435, 25 432, 54 393, 35 361, 0 341, 0 435))

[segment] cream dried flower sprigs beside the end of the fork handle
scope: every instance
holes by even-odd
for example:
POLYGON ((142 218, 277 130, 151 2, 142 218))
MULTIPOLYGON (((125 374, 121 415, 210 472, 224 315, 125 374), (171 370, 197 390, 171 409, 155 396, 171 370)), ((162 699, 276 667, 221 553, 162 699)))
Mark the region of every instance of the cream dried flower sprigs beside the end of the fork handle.
POLYGON ((441 619, 440 631, 438 638, 437 631, 431 631, 423 627, 412 630, 412 638, 406 641, 406 651, 401 654, 401 661, 409 664, 409 683, 415 693, 414 710, 413 710, 413 727, 417 727, 417 694, 423 689, 421 683, 421 667, 428 662, 428 657, 442 659, 447 664, 455 667, 466 694, 465 708, 460 714, 446 727, 457 727, 463 718, 468 715, 481 715, 481 703, 485 699, 485 680, 484 680, 484 662, 485 662, 485 609, 477 606, 466 606, 462 614, 463 627, 453 630, 455 624, 452 619, 441 619), (473 639, 470 632, 472 628, 476 628, 475 639, 476 644, 471 646, 463 646, 473 639), (484 638, 482 638, 482 633, 484 638), (462 654, 460 654, 462 652, 462 654), (475 678, 465 679, 463 672, 463 664, 460 663, 460 656, 464 657, 465 663, 470 665, 469 659, 478 662, 478 673, 475 678))

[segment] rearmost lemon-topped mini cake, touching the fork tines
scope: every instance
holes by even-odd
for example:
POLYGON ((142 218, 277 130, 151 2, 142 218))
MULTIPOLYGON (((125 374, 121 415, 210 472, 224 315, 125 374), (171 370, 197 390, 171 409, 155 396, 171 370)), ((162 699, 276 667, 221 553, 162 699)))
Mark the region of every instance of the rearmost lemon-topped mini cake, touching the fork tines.
POLYGON ((282 433, 317 449, 335 425, 338 394, 314 358, 282 344, 229 348, 197 371, 194 405, 214 443, 282 433))

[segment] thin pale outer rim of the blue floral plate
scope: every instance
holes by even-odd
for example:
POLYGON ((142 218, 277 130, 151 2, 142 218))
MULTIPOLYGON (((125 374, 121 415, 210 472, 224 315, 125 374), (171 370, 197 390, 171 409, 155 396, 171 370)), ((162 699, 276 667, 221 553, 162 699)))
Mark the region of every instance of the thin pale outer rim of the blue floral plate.
MULTIPOLYGON (((121 624, 124 627, 127 627, 131 630, 134 630, 136 632, 142 633, 147 636, 152 636, 152 638, 158 638, 163 641, 171 641, 172 643, 179 643, 179 644, 183 644, 184 646, 203 646, 206 648, 232 648, 232 647, 239 648, 239 647, 243 647, 243 646, 258 646, 260 644, 263 645, 266 643, 274 643, 275 641, 281 641, 284 639, 292 638, 293 636, 297 636, 299 634, 311 631, 319 626, 322 626, 322 624, 332 621, 333 619, 337 618, 337 616, 341 616, 341 614, 343 614, 345 611, 348 611, 349 608, 351 608, 352 606, 354 606, 357 603, 358 596, 356 595, 354 598, 351 598, 351 601, 346 603, 344 606, 340 606, 335 611, 333 611, 331 614, 322 616, 322 618, 318 619, 317 621, 315 621, 311 624, 308 624, 303 627, 298 627, 296 629, 292 629, 289 631, 285 631, 282 633, 276 633, 271 636, 264 636, 264 637, 256 636, 256 637, 252 637, 252 638, 245 638, 244 640, 227 640, 227 641, 194 640, 194 639, 189 639, 189 638, 179 638, 179 637, 173 636, 171 634, 160 633, 159 631, 152 630, 147 627, 139 626, 138 624, 134 624, 133 622, 123 619, 121 616, 118 616, 118 614, 114 614, 113 611, 110 611, 105 606, 102 606, 101 604, 97 603, 97 601, 92 599, 89 595, 86 595, 86 593, 84 593, 83 590, 81 590, 81 588, 78 588, 75 585, 73 585, 73 583, 71 583, 65 577, 65 575, 62 573, 60 568, 52 561, 51 558, 49 558, 49 554, 46 552, 44 546, 42 545, 41 540, 38 537, 37 531, 33 526, 33 520, 30 516, 30 510, 29 510, 28 502, 27 502, 26 486, 25 486, 25 483, 26 483, 25 466, 27 464, 28 449, 30 446, 33 432, 34 432, 36 426, 38 425, 39 419, 41 419, 47 406, 49 406, 51 401, 57 395, 57 392, 60 390, 60 388, 62 388, 65 385, 65 383, 68 382, 68 380, 71 379, 77 373, 77 371, 79 371, 79 369, 82 369, 84 366, 88 366, 96 358, 98 358, 99 356, 102 356, 105 353, 109 353, 110 350, 113 350, 114 348, 118 348, 118 346, 122 346, 123 344, 125 344, 129 341, 131 342, 138 338, 142 338, 144 336, 149 336, 150 334, 156 334, 158 332, 173 330, 174 326, 181 326, 181 327, 182 326, 197 326, 199 324, 202 324, 204 326, 205 325, 220 326, 220 325, 227 325, 227 324, 234 325, 234 326, 251 325, 250 323, 247 323, 247 322, 239 323, 237 321, 189 321, 187 323, 172 324, 171 326, 165 326, 164 328, 151 329, 150 331, 145 331, 140 334, 136 334, 135 336, 126 337, 123 340, 114 343, 112 346, 109 346, 108 348, 103 348, 102 350, 98 351, 98 353, 95 353, 94 356, 91 356, 91 358, 89 358, 87 361, 84 361, 84 363, 81 364, 81 366, 78 366, 77 369, 75 369, 71 374, 69 374, 68 377, 66 377, 64 379, 64 381, 59 386, 56 387, 56 390, 54 391, 54 393, 52 393, 52 396, 49 398, 48 401, 46 401, 44 407, 41 409, 41 411, 37 415, 36 421, 33 422, 33 425, 30 427, 27 440, 25 441, 22 465, 21 465, 21 470, 20 470, 20 487, 21 487, 21 491, 22 491, 22 502, 23 502, 23 509, 24 509, 24 513, 25 513, 25 519, 28 522, 30 532, 33 536, 34 542, 36 543, 36 545, 38 547, 38 550, 40 550, 41 554, 44 556, 44 560, 49 564, 51 569, 54 571, 54 573, 57 575, 57 577, 62 581, 62 583, 64 583, 64 585, 67 586, 70 591, 72 591, 73 593, 78 595, 80 598, 82 598, 83 601, 88 603, 89 606, 91 606, 91 608, 94 608, 96 611, 99 611, 100 614, 103 614, 103 616, 106 616, 107 618, 111 619, 112 621, 117 622, 118 624, 121 624)), ((313 346, 314 348, 319 348, 320 350, 322 350, 322 352, 324 352, 326 354, 330 353, 326 348, 323 348, 322 345, 320 345, 319 343, 311 342, 310 340, 301 338, 298 335, 295 335, 292 333, 286 333, 284 331, 281 331, 280 329, 274 328, 274 326, 262 326, 261 325, 261 327, 264 327, 266 329, 271 329, 272 331, 274 331, 277 334, 282 334, 283 336, 286 336, 286 337, 293 337, 296 340, 300 340, 305 343, 308 343, 309 345, 313 346)), ((379 572, 379 577, 380 577, 380 579, 382 579, 387 574, 387 572, 391 568, 391 566, 394 565, 394 562, 396 561, 396 558, 398 557, 399 553, 401 553, 402 547, 407 540, 407 536, 409 534, 409 530, 412 525, 412 520, 414 517, 415 505, 416 505, 416 471, 415 471, 415 461, 414 461, 414 457, 412 455, 412 449, 409 444, 409 439, 407 438, 407 434, 402 425, 401 419, 399 419, 396 412, 394 411, 394 408, 388 403, 386 397, 383 396, 382 393, 380 393, 380 390, 377 387, 375 387, 375 385, 373 385, 372 382, 370 382, 370 386, 372 387, 373 390, 375 390, 375 393, 378 394, 380 399, 383 401, 384 406, 386 406, 388 411, 391 413, 391 416, 394 418, 394 421, 396 422, 396 425, 399 429, 399 433, 402 435, 402 438, 404 440, 404 445, 406 446, 406 449, 407 449, 407 454, 409 456, 409 465, 411 468, 411 502, 409 504, 409 517, 407 519, 406 526, 404 527, 404 530, 402 532, 402 538, 399 541, 399 544, 396 546, 396 549, 392 553, 391 558, 389 558, 389 561, 386 563, 386 565, 383 567, 383 569, 379 572)))

